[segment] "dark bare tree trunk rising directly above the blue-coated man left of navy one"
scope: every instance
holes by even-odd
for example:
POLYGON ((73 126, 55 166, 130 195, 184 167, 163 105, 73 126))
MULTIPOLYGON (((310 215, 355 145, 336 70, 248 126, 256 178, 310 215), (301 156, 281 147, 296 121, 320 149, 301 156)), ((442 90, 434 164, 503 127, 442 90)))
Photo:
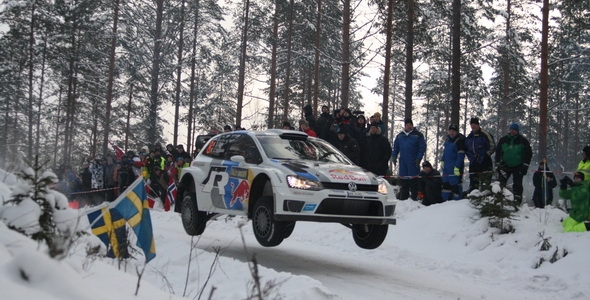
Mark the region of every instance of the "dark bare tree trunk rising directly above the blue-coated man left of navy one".
POLYGON ((459 124, 461 107, 461 0, 453 0, 453 59, 451 83, 451 122, 459 124))

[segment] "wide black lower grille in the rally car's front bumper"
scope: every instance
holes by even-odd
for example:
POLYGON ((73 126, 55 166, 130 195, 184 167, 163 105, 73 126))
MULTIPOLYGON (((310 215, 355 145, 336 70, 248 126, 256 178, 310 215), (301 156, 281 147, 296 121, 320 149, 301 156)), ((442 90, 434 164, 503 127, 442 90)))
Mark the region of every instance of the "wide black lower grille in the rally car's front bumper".
POLYGON ((381 201, 326 198, 318 206, 316 214, 346 216, 383 216, 381 201))

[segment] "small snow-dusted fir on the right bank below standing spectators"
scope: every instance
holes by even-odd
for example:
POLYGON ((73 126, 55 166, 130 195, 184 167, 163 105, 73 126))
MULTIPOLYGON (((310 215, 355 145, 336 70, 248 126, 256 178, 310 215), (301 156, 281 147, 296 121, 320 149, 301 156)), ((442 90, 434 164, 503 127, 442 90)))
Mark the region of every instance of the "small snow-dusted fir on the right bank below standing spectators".
POLYGON ((500 229, 500 233, 514 232, 511 224, 514 213, 518 211, 519 201, 500 183, 495 181, 487 189, 473 190, 467 198, 479 210, 482 217, 487 217, 490 226, 500 229))

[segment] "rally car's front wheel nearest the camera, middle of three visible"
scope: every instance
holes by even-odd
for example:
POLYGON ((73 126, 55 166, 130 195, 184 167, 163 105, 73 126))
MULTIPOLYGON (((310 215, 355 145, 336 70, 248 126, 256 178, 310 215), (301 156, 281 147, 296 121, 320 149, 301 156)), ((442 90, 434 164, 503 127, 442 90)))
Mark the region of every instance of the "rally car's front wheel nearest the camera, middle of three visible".
POLYGON ((265 196, 256 201, 252 211, 252 229, 260 245, 278 246, 285 239, 286 225, 286 222, 275 221, 272 197, 265 196))

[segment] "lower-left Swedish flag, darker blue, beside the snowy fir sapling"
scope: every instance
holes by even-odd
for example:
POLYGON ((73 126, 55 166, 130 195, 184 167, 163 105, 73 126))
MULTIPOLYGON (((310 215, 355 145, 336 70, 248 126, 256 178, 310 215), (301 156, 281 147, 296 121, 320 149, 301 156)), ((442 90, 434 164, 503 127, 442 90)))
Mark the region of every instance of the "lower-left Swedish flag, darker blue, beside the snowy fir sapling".
POLYGON ((125 219, 116 210, 103 207, 88 214, 92 233, 107 245, 108 257, 127 256, 127 234, 125 219))

